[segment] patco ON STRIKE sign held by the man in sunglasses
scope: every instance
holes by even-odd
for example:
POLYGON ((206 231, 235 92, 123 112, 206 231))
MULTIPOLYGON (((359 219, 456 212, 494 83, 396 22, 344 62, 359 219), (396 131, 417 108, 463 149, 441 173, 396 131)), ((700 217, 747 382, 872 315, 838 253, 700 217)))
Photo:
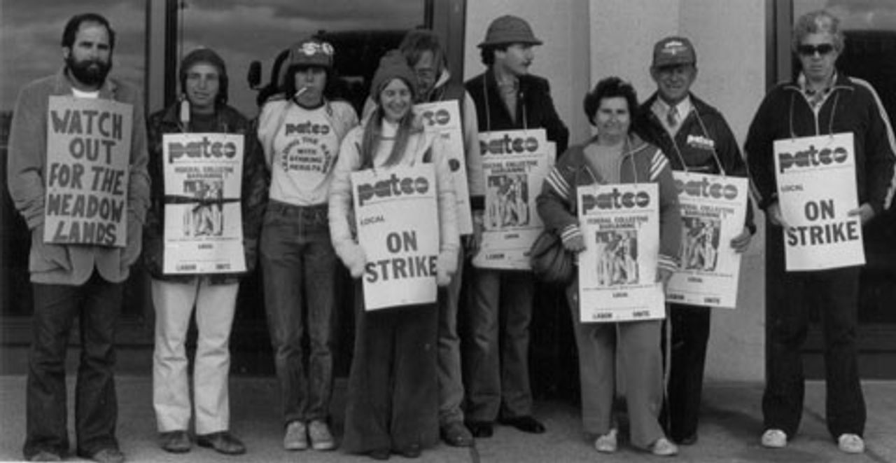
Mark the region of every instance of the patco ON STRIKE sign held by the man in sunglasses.
POLYGON ((788 271, 865 264, 852 134, 776 140, 775 176, 788 271))

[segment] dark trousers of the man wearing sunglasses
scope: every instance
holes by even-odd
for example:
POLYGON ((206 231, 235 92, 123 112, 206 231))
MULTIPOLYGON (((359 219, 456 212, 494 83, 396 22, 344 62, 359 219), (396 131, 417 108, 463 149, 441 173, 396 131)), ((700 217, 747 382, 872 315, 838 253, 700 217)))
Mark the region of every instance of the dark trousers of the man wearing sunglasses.
MULTIPOLYGON (((770 240, 773 241, 773 240, 770 240)), ((780 240, 777 240, 780 244, 780 240)), ((770 247, 771 248, 771 247, 770 247)), ((783 250, 770 256, 780 261, 783 250)), ((762 396, 765 429, 780 429, 792 437, 803 415, 805 384, 800 348, 809 324, 808 301, 814 301, 822 319, 827 386, 825 411, 828 431, 862 435, 866 406, 858 377, 856 346, 859 267, 817 272, 784 272, 770 279, 767 310, 768 378, 762 396)))

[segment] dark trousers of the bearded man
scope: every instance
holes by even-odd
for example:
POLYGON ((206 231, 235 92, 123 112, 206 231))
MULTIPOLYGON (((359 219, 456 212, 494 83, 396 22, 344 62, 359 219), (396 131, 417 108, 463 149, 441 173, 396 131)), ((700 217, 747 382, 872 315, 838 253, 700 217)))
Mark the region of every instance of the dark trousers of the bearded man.
POLYGON ((33 284, 33 290, 25 458, 40 450, 59 455, 68 451, 65 352, 76 317, 80 317, 82 346, 74 398, 77 452, 90 456, 102 449, 117 449, 113 368, 123 285, 94 273, 81 286, 33 284))

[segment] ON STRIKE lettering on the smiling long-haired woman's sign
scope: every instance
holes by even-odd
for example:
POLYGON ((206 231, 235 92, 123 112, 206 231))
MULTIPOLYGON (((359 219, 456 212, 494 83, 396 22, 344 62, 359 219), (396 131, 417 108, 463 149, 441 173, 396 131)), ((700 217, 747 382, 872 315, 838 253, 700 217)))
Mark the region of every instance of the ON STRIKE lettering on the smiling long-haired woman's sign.
MULTIPOLYGON (((416 252, 417 231, 392 232, 386 235, 386 249, 392 254, 416 252)), ((435 256, 402 256, 368 262, 364 273, 367 283, 435 276, 435 256)))

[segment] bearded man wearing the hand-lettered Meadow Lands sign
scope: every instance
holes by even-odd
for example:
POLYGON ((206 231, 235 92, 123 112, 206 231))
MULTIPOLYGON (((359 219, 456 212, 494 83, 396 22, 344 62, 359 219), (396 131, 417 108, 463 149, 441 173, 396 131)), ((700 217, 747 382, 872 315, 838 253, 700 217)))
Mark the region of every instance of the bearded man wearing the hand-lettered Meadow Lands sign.
MULTIPOLYGON (((30 461, 61 461, 68 457, 65 354, 75 319, 80 320, 78 326, 82 335, 81 362, 74 393, 75 451, 79 457, 100 462, 125 460, 116 439, 115 332, 125 280, 140 256, 141 225, 149 204, 150 179, 146 172, 146 127, 140 92, 108 76, 115 45, 115 31, 105 17, 96 13, 73 16, 62 33, 65 66, 56 74, 23 87, 13 111, 6 181, 13 204, 31 231, 29 271, 34 293, 33 338, 22 449, 24 459, 30 461), (47 127, 51 104, 68 108, 54 110, 54 115, 56 112, 68 115, 71 111, 73 118, 77 118, 84 114, 82 121, 88 124, 87 127, 97 127, 87 122, 96 119, 87 116, 90 111, 95 115, 97 109, 101 111, 99 127, 104 127, 103 116, 110 116, 105 118, 107 120, 131 119, 130 126, 121 125, 130 133, 119 134, 127 136, 129 145, 116 144, 111 137, 100 139, 95 133, 87 139, 104 145, 112 142, 110 149, 104 151, 108 153, 107 162, 111 165, 103 166, 102 170, 118 179, 118 187, 114 188, 117 192, 109 192, 115 196, 112 207, 121 205, 120 210, 126 216, 117 227, 119 223, 113 220, 83 223, 82 228, 85 233, 90 225, 111 229, 116 235, 113 240, 124 238, 121 247, 100 244, 97 241, 101 236, 89 238, 72 234, 57 236, 60 239, 54 240, 45 238, 45 228, 56 229, 51 220, 64 224, 67 219, 62 217, 63 221, 60 221, 58 211, 54 213, 52 210, 58 208, 52 208, 47 201, 47 192, 60 188, 58 175, 51 175, 52 171, 57 171, 57 167, 65 168, 65 172, 77 172, 78 168, 84 171, 80 177, 82 181, 61 185, 75 191, 72 195, 57 196, 66 199, 96 198, 91 196, 90 183, 99 179, 91 173, 90 164, 82 163, 86 160, 70 161, 67 158, 71 156, 65 153, 66 150, 53 149, 51 142, 58 142, 58 132, 65 133, 65 130, 47 127), (56 140, 47 134, 51 130, 56 132, 53 134, 56 140)), ((65 120, 69 120, 67 116, 65 120)), ((67 122, 64 125, 67 127, 67 122)), ((82 126, 73 124, 73 127, 82 126)), ((81 132, 80 129, 72 130, 81 132)), ((102 128, 99 131, 102 132, 102 128)), ((65 138, 66 146, 68 140, 65 138)), ((75 139, 78 140, 81 137, 75 139)), ((77 204, 83 204, 83 201, 77 204)), ((73 206, 75 210, 78 210, 77 204, 73 206)), ((81 210, 83 212, 83 208, 81 210)), ((77 216, 77 213, 73 215, 77 216)), ((68 223, 77 225, 79 221, 68 223)), ((65 229, 68 230, 68 225, 65 229)))

